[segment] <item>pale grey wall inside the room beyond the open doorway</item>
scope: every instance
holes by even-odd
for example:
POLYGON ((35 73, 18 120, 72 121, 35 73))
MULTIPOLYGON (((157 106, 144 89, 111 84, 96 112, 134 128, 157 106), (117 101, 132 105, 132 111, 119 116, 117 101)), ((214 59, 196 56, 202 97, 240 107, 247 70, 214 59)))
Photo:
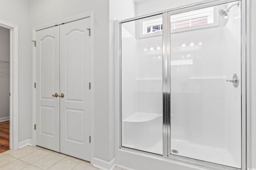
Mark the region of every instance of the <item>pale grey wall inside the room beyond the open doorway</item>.
POLYGON ((10 116, 10 30, 0 27, 0 121, 10 116))

